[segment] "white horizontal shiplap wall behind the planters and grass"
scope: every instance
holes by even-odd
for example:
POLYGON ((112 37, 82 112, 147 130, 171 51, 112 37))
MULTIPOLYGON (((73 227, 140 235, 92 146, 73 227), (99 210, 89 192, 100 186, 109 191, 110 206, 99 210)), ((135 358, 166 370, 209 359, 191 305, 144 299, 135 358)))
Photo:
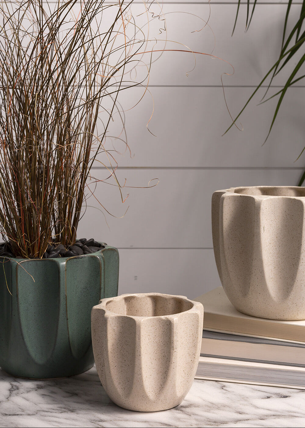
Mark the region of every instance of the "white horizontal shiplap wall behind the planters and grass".
MULTIPOLYGON (((237 2, 211 1, 209 24, 216 38, 214 55, 235 67, 233 76, 223 76, 233 116, 276 60, 286 3, 258 3, 247 33, 243 3, 231 37, 237 2)), ((293 2, 294 14, 299 8, 299 2, 293 2)), ((205 19, 208 2, 164 0, 163 10, 189 12, 205 19)), ((214 42, 208 27, 191 33, 200 26, 191 15, 167 15, 169 39, 194 51, 211 52, 214 42)), ((230 117, 220 75, 230 73, 231 67, 208 56, 196 59, 196 68, 188 77, 185 72, 193 66, 188 54, 167 53, 155 64, 150 75, 155 100, 150 130, 157 137, 146 128, 152 108, 149 96, 126 113, 134 157, 118 159, 117 175, 121 182, 126 178, 129 186, 146 186, 151 178, 158 177, 158 186, 128 189, 130 195, 124 205, 117 189, 98 186, 97 199, 111 213, 120 217, 127 203, 129 210, 123 218, 107 215, 108 227, 97 202, 90 199, 92 206, 79 226, 79 237, 93 236, 119 249, 120 294, 162 291, 194 298, 220 285, 211 239, 213 191, 241 185, 294 185, 305 165, 304 156, 296 161, 304 144, 305 86, 288 91, 264 146, 275 105, 271 101, 256 106, 264 89, 241 116, 243 131, 232 128, 221 137, 230 125, 230 117)), ((283 82, 284 76, 279 76, 274 84, 280 86, 283 82)), ((139 90, 129 92, 127 107, 138 98, 139 90)), ((104 178, 105 171, 96 167, 94 174, 104 178)))

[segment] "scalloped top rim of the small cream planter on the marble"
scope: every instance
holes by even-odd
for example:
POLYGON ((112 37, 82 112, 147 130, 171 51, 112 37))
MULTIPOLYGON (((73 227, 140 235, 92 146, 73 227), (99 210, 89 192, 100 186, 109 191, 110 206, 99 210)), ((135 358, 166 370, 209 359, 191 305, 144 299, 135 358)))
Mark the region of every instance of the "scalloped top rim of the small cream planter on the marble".
POLYGON ((105 316, 117 316, 121 315, 124 317, 134 318, 136 320, 141 318, 176 318, 177 315, 186 313, 186 312, 197 312, 198 308, 201 306, 201 303, 196 302, 195 300, 190 300, 186 296, 182 295, 173 295, 173 294, 164 294, 164 293, 126 293, 126 294, 120 294, 120 296, 115 297, 106 297, 104 299, 101 299, 100 302, 95 305, 92 309, 103 309, 105 311, 105 316), (174 314, 167 314, 167 315, 122 315, 119 312, 114 312, 109 309, 107 309, 107 303, 111 301, 119 301, 123 300, 124 297, 150 297, 150 296, 156 296, 156 297, 164 297, 167 300, 175 299, 175 300, 182 300, 184 303, 192 303, 192 307, 190 309, 187 309, 185 311, 181 312, 175 312, 174 314))

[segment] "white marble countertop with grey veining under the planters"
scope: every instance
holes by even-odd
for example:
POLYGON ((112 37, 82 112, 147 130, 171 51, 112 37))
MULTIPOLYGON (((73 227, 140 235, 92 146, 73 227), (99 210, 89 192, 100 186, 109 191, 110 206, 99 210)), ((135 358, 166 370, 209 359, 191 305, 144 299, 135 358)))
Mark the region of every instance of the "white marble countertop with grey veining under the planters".
POLYGON ((305 390, 194 380, 179 406, 139 413, 110 401, 94 368, 55 380, 0 370, 1 427, 304 427, 305 390))

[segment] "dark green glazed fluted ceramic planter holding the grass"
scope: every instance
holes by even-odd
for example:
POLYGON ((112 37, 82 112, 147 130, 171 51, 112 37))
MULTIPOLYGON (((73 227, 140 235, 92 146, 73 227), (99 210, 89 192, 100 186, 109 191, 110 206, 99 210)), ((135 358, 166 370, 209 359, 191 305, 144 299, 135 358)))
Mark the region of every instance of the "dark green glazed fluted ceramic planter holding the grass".
POLYGON ((0 257, 3 370, 45 379, 77 375, 93 366, 91 308, 104 297, 117 296, 118 285, 118 251, 103 245, 97 253, 77 257, 0 257))

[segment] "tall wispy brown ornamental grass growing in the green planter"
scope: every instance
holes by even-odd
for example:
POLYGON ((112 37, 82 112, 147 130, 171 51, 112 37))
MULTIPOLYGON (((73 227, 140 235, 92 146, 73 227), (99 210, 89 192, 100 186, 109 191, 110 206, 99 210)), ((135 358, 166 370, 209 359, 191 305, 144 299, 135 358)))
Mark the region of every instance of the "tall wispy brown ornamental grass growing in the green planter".
POLYGON ((15 256, 75 242, 94 162, 121 189, 106 132, 115 111, 124 127, 120 91, 145 89, 150 69, 132 2, 0 3, 0 233, 15 256))

